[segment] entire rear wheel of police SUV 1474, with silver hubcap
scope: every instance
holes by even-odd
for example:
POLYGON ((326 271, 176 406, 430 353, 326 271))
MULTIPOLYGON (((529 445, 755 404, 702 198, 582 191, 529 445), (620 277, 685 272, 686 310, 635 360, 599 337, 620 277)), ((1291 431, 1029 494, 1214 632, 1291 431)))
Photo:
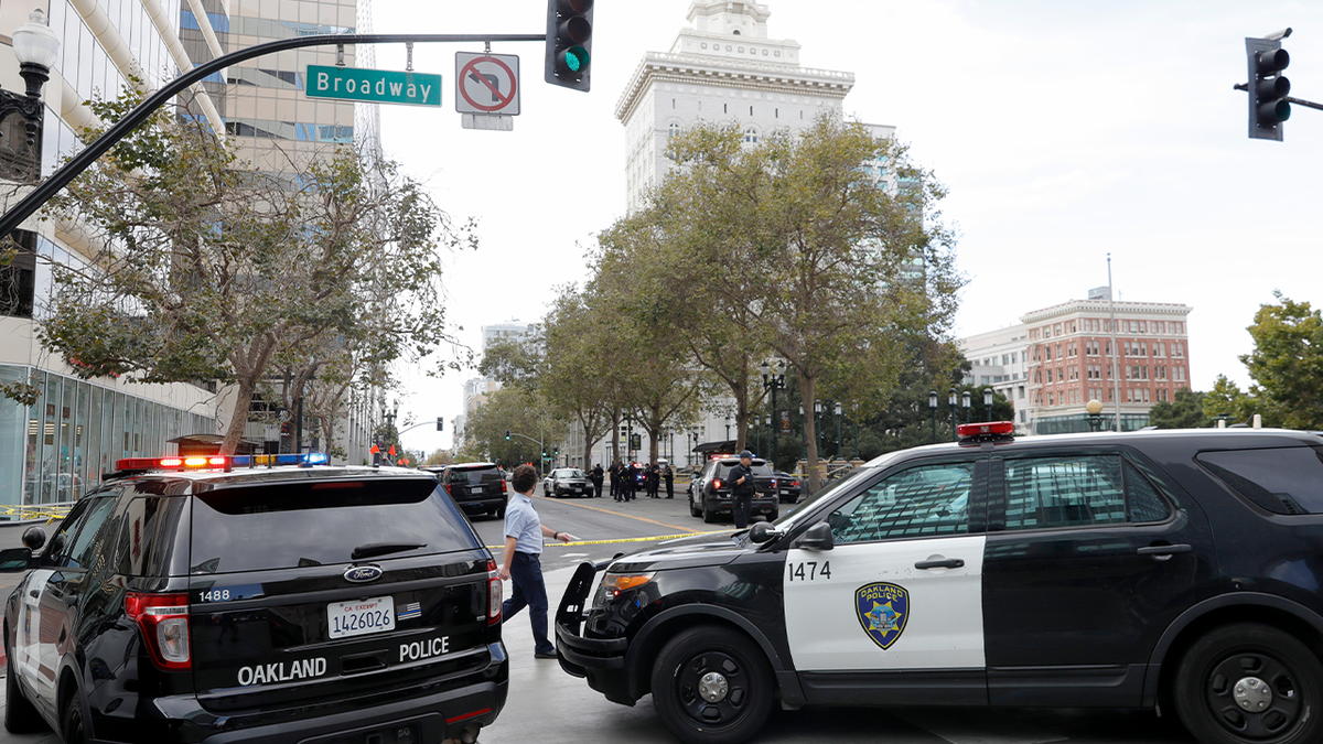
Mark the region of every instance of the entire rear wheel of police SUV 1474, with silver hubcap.
POLYGON ((1323 737, 1323 662, 1294 637, 1242 622, 1204 635, 1176 670, 1176 712, 1208 744, 1323 737))

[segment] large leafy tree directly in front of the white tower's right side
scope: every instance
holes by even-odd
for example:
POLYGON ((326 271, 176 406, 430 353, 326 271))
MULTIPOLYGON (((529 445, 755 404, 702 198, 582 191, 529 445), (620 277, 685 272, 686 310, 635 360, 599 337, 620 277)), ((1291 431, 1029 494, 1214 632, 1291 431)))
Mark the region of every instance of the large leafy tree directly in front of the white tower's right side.
MULTIPOLYGON (((680 165, 672 177, 708 184, 709 208, 689 229, 724 220, 713 242, 741 271, 732 289, 753 338, 794 368, 806 410, 847 393, 861 413, 878 410, 902 369, 904 334, 949 331, 962 281, 937 210, 945 188, 905 147, 828 114, 755 147, 737 126, 700 126, 672 138, 668 155, 680 165), (863 169, 877 159, 900 176, 897 192, 863 169)), ((806 429, 816 485, 811 417, 806 429)))

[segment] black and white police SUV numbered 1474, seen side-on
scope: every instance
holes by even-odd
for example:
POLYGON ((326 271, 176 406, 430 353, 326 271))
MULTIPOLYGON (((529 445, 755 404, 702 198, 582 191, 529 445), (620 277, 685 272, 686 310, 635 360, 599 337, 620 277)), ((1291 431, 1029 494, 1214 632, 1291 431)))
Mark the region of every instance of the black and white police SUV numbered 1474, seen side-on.
POLYGON ((1323 438, 960 429, 775 523, 582 564, 561 667, 651 692, 691 743, 744 741, 773 703, 1160 707, 1203 743, 1323 739, 1323 438))

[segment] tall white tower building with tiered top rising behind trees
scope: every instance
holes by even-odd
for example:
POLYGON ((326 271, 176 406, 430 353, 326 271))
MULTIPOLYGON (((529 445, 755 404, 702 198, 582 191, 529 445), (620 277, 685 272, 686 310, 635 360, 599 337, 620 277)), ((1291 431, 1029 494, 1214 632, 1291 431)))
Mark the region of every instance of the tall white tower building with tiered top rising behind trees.
POLYGON ((628 209, 671 168, 665 140, 697 122, 738 123, 747 142, 840 111, 853 73, 799 66, 799 42, 767 36, 759 3, 695 0, 669 52, 648 52, 615 106, 626 131, 628 209))

